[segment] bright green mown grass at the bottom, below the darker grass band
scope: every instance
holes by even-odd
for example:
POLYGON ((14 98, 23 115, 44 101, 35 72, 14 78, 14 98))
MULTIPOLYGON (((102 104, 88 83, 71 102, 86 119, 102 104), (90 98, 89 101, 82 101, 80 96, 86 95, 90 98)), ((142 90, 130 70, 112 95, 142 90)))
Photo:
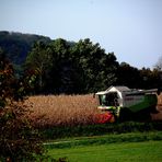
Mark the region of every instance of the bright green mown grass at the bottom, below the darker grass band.
POLYGON ((162 141, 120 142, 49 149, 53 158, 70 162, 161 162, 162 141))

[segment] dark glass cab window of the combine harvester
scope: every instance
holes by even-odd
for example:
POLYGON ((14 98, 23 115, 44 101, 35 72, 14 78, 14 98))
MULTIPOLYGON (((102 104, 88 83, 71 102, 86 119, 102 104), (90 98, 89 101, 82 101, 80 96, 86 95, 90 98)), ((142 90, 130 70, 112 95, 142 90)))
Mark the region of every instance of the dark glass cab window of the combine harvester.
POLYGON ((103 106, 118 106, 118 96, 116 92, 100 95, 100 104, 103 106))

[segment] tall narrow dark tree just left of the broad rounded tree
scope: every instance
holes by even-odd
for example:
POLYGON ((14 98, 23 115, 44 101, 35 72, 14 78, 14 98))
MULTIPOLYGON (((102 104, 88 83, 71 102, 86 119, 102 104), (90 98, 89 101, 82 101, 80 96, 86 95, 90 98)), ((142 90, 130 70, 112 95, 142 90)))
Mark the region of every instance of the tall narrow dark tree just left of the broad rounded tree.
POLYGON ((53 68, 50 69, 50 80, 48 86, 53 88, 53 93, 71 93, 71 61, 70 61, 70 44, 58 38, 50 43, 50 51, 53 56, 53 68))

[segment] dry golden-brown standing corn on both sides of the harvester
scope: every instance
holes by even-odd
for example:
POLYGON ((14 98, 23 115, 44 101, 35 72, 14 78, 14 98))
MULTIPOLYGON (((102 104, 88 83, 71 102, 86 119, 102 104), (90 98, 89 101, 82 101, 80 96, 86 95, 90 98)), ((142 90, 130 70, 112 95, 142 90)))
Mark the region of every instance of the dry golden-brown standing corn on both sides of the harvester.
MULTIPOLYGON (((158 96, 158 114, 152 120, 162 119, 162 95, 158 96)), ((26 101, 36 127, 74 126, 96 123, 97 101, 88 95, 38 95, 26 101)))

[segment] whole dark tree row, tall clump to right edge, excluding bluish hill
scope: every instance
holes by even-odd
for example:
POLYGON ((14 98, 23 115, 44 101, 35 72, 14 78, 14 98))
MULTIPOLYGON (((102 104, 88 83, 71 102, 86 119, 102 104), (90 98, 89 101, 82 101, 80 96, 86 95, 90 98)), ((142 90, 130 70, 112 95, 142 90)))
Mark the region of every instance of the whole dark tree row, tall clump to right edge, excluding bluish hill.
MULTIPOLYGON (((78 43, 58 38, 50 44, 35 44, 26 59, 27 69, 39 70, 36 90, 40 93, 83 94, 111 85, 132 89, 161 88, 161 72, 120 65, 114 53, 105 54, 89 38, 78 43), (40 68, 44 67, 44 68, 40 68)), ((38 93, 39 93, 38 92, 38 93)))

